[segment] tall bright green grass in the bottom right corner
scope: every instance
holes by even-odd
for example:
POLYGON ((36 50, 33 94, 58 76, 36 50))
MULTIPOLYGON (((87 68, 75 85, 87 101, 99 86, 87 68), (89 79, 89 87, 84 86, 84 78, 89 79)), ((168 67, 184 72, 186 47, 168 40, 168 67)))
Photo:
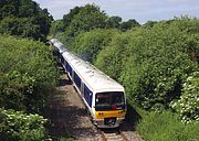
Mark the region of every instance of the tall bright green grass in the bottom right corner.
POLYGON ((199 122, 184 124, 170 111, 147 112, 136 126, 145 141, 198 141, 199 122))

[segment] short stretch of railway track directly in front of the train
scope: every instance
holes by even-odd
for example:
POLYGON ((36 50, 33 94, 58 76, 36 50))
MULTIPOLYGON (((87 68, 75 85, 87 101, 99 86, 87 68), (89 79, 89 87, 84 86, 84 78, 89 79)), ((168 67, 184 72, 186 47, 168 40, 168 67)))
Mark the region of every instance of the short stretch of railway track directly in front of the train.
POLYGON ((103 141, 129 141, 128 138, 119 129, 98 129, 103 141))

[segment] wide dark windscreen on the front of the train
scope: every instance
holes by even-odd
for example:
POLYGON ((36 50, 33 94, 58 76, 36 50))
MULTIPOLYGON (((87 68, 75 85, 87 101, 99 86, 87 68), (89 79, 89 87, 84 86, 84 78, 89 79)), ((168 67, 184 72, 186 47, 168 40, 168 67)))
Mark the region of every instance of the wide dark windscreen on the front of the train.
POLYGON ((124 93, 98 93, 95 97, 95 110, 118 110, 124 109, 124 93))

